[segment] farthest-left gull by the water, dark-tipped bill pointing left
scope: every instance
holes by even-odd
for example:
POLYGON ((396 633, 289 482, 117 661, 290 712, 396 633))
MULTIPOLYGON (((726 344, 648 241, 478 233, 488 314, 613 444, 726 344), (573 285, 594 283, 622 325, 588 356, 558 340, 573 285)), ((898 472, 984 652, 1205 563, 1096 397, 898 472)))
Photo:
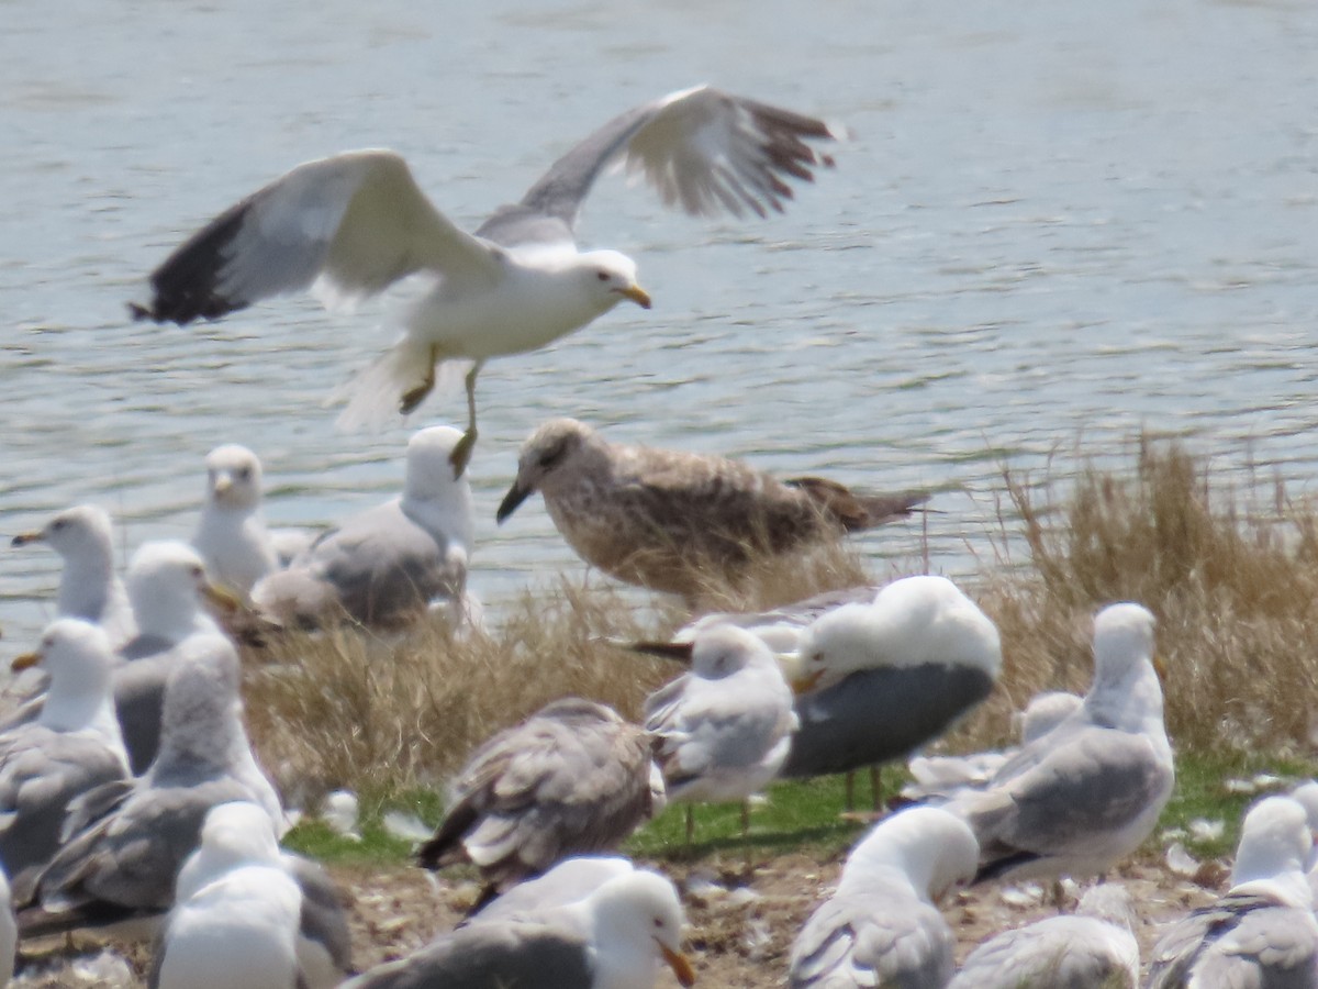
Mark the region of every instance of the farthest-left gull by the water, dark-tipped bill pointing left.
POLYGON ((13 537, 13 546, 43 542, 65 563, 59 578, 58 614, 100 625, 112 649, 136 632, 124 583, 115 572, 115 541, 109 514, 96 505, 65 509, 36 531, 13 537))

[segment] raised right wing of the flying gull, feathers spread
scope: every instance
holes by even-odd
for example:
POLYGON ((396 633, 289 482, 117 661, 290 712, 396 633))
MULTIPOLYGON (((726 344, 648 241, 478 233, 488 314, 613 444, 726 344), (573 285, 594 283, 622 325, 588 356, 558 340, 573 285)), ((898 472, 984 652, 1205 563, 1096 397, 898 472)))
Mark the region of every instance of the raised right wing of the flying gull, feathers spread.
POLYGON ((821 120, 706 86, 671 92, 587 137, 477 235, 509 245, 571 240, 596 178, 619 158, 643 173, 667 206, 764 216, 792 198, 784 179, 808 182, 812 167, 833 164, 805 141, 834 137, 821 120))

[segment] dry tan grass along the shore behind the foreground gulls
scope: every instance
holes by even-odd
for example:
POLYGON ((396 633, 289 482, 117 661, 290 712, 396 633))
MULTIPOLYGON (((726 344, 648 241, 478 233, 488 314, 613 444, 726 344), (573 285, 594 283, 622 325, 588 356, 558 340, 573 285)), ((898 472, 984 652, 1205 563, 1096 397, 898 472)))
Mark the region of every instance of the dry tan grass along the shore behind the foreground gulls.
MULTIPOLYGON (((1178 749, 1307 750, 1318 683, 1309 506, 1272 485, 1265 497, 1259 484, 1218 487, 1184 450, 1147 442, 1127 472, 1086 467, 1029 481, 1003 469, 1012 510, 1002 513, 1000 558, 969 582, 1002 630, 1002 683, 950 748, 1002 741, 1010 712, 1037 690, 1083 690, 1094 612, 1137 600, 1159 616, 1178 749), (1010 545, 1028 559, 1011 559, 1010 545)), ((908 572, 924 566, 912 560, 908 572)), ((865 580, 842 546, 754 567, 735 588, 710 580, 701 600, 760 609, 865 580)), ((602 640, 663 636, 684 618, 677 604, 638 609, 612 585, 560 579, 506 609, 489 638, 453 640, 438 620, 393 641, 352 629, 293 636, 249 657, 253 738, 282 781, 310 789, 295 799, 430 786, 555 698, 577 694, 637 717, 675 670, 602 640)))

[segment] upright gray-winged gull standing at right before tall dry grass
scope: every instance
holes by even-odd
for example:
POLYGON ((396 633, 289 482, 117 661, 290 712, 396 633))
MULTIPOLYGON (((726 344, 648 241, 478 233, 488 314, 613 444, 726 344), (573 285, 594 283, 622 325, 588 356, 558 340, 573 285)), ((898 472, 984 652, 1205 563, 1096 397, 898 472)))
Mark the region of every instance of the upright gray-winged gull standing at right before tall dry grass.
POLYGON ((1174 782, 1153 624, 1137 604, 1101 611, 1085 703, 1023 746, 987 789, 948 804, 979 840, 977 881, 1098 874, 1152 832, 1174 782))

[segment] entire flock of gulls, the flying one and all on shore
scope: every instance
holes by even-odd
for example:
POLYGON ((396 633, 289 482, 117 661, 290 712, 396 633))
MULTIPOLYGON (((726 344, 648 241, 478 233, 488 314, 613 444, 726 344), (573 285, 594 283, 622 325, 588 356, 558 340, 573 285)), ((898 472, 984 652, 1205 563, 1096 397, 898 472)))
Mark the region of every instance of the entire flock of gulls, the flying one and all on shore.
MULTIPOLYGON (((623 299, 650 306, 630 258, 577 251, 596 178, 621 164, 685 212, 764 215, 791 198, 791 179, 832 165, 812 142, 838 136, 713 88, 675 92, 604 125, 473 233, 430 203, 399 156, 339 154, 246 196, 150 276, 152 298, 133 313, 179 324, 304 289, 352 301, 419 276, 426 293, 402 338, 339 396, 343 422, 411 413, 457 367, 468 425, 415 433, 401 494, 322 533, 268 530, 261 463, 225 444, 207 456, 192 541, 142 543, 123 578, 99 508, 13 538, 45 543, 63 571, 58 617, 13 662, 41 670, 41 684, 0 727, 5 980, 20 939, 91 930, 153 942, 149 981, 162 989, 642 989, 664 968, 687 986, 701 964, 683 952, 680 891, 618 845, 668 802, 745 808, 775 778, 915 756, 905 806, 879 816, 836 887, 818 890, 787 984, 1140 984, 1139 905, 1102 877, 1152 833, 1174 770, 1155 618, 1133 603, 1094 617, 1085 696, 1035 699, 1017 748, 969 758, 919 754, 1002 670, 994 622, 945 578, 701 614, 671 641, 630 644, 681 667, 645 700, 643 724, 560 698, 472 753, 416 858, 473 869, 484 891, 456 930, 365 972, 345 893, 279 847, 289 815, 248 741, 231 633, 405 632, 438 611, 455 634, 484 634, 467 592, 480 368, 623 299), (940 901, 1023 877, 1099 881, 1074 913, 998 934, 958 971, 940 901)), ((758 558, 789 566, 803 546, 924 500, 622 446, 573 419, 531 433, 498 521, 534 492, 588 564, 688 603, 702 575, 735 579, 758 558)), ((688 839, 691 827, 688 815, 688 839)), ((1230 889, 1162 932, 1147 985, 1318 986, 1315 829, 1318 783, 1257 802, 1230 889)))

